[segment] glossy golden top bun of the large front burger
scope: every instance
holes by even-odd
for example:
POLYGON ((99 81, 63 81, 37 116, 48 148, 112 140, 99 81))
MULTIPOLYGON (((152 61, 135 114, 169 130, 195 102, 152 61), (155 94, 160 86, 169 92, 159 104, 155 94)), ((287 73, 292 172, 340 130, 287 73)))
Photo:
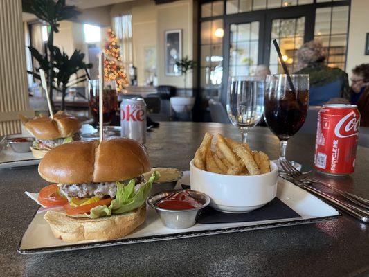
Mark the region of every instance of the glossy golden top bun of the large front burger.
POLYGON ((143 145, 126 138, 62 144, 49 150, 39 163, 39 175, 60 184, 122 181, 150 169, 143 145))

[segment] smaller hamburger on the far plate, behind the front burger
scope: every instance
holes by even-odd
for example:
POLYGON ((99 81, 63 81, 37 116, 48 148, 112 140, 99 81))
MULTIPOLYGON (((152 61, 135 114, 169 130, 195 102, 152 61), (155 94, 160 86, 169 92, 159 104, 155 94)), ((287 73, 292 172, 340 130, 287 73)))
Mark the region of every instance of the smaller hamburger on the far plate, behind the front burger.
POLYGON ((41 159, 44 155, 58 145, 70 143, 80 139, 80 121, 64 111, 58 111, 54 119, 44 115, 28 119, 19 114, 19 118, 27 131, 35 136, 30 150, 35 158, 41 159))

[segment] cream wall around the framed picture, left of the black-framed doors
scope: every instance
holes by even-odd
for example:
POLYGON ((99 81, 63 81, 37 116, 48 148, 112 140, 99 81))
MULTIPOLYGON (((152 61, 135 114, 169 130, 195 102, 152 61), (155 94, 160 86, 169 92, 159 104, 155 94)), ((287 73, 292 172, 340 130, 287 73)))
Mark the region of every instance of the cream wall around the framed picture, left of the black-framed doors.
MULTIPOLYGON (((155 5, 152 0, 136 0, 111 6, 111 18, 132 15, 134 66, 138 69, 138 85, 145 85, 144 51, 156 46, 158 84, 183 87, 183 76, 165 76, 164 32, 182 30, 182 56, 193 59, 193 2, 181 0, 155 5)), ((192 87, 192 72, 188 73, 187 87, 192 87)))

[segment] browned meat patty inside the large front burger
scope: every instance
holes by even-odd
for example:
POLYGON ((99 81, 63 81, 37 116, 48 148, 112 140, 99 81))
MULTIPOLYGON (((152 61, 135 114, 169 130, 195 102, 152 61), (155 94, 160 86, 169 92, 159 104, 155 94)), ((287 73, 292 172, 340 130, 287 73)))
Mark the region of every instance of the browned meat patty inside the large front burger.
MULTIPOLYGON (((120 183, 127 185, 130 180, 120 181, 120 183)), ((143 182, 143 176, 136 177, 136 184, 143 182)), ((116 196, 116 182, 102 182, 89 184, 60 184, 59 192, 67 199, 72 197, 89 198, 93 196, 111 198, 116 196)))

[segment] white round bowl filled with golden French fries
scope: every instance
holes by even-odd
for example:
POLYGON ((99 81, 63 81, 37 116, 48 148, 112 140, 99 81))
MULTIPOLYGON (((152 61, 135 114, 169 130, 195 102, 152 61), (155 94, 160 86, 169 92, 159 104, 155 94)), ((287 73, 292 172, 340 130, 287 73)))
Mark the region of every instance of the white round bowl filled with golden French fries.
POLYGON ((278 167, 267 154, 222 134, 213 140, 206 133, 190 161, 191 189, 208 195, 210 206, 226 213, 247 213, 271 202, 277 179, 278 167))

